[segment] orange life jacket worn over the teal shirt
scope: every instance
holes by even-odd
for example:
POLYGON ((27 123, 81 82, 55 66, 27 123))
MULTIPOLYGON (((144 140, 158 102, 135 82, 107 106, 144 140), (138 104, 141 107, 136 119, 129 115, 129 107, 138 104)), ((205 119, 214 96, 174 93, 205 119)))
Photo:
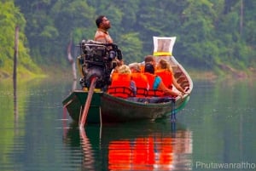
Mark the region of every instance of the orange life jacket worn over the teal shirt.
POLYGON ((148 89, 148 97, 159 97, 159 96, 163 96, 164 92, 160 89, 154 89, 154 80, 155 77, 157 77, 154 74, 145 72, 144 75, 148 78, 148 85, 149 85, 149 89, 148 89))

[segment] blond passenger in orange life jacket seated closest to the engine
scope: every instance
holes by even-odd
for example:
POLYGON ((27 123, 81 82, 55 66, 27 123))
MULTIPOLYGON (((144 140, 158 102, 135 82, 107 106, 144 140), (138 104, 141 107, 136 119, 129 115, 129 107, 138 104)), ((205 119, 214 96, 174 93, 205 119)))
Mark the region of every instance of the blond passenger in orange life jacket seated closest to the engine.
POLYGON ((118 72, 112 76, 111 85, 108 86, 108 94, 114 96, 127 98, 136 96, 137 88, 134 81, 131 80, 131 70, 129 66, 119 66, 118 72))

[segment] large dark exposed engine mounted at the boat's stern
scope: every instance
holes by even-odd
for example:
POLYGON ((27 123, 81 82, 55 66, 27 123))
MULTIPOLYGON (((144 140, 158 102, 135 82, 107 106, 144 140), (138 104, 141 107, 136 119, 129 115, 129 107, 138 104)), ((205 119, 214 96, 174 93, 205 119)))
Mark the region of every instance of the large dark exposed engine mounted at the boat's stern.
POLYGON ((98 43, 92 40, 83 40, 79 47, 81 55, 78 59, 83 75, 80 85, 82 88, 90 88, 91 79, 97 77, 96 88, 106 90, 111 84, 111 71, 117 60, 122 60, 121 50, 114 43, 98 43))

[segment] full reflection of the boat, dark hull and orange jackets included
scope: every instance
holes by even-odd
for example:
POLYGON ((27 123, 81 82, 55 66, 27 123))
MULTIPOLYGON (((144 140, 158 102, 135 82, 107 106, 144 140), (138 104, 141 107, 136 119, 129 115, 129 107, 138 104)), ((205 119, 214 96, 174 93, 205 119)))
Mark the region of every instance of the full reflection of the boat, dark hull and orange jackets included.
POLYGON ((64 140, 81 147, 82 170, 191 170, 192 132, 171 124, 87 125, 80 132, 71 124, 64 140))

